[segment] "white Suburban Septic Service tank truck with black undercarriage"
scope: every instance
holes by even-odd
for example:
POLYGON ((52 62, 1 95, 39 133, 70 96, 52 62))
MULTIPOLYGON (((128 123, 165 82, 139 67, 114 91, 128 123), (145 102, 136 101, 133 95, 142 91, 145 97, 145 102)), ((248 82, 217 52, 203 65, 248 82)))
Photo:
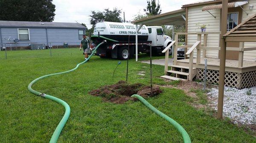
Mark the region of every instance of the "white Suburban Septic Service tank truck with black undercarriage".
MULTIPOLYGON (((102 40, 107 40, 105 44, 97 49, 94 55, 125 60, 135 54, 135 35, 135 25, 131 23, 98 22, 94 27, 93 36, 91 36, 93 40, 91 48, 96 47, 102 40)), ((138 53, 149 53, 151 45, 152 54, 158 55, 171 42, 171 37, 164 35, 161 26, 143 25, 138 31, 138 53)), ((171 53, 172 47, 169 50, 169 54, 171 53)))

